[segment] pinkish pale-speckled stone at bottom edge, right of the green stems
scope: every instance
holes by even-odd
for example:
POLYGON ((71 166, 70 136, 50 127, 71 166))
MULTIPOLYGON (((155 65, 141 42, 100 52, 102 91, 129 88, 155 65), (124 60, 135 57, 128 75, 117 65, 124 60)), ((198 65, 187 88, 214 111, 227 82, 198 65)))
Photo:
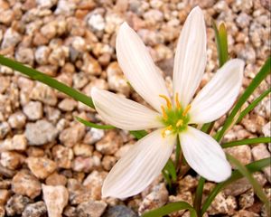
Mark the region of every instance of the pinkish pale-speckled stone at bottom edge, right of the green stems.
POLYGON ((210 215, 216 214, 229 214, 232 215, 237 208, 237 202, 235 197, 229 195, 226 197, 224 193, 219 193, 215 199, 210 204, 210 208, 208 209, 208 213, 210 215))

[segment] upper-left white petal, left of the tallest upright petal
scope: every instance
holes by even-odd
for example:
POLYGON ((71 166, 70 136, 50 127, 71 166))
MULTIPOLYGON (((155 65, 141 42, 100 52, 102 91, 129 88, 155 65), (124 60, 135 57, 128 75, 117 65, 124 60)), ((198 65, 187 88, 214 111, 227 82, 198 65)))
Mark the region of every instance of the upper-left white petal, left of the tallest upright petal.
POLYGON ((164 100, 169 98, 164 79, 154 65, 145 44, 128 24, 120 26, 116 40, 117 61, 135 91, 154 109, 161 111, 164 100))

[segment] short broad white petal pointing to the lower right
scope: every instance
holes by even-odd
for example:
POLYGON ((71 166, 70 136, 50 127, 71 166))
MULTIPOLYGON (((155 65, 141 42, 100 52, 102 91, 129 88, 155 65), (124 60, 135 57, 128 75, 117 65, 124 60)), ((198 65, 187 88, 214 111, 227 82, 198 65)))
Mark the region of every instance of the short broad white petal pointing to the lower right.
POLYGON ((199 175, 217 183, 229 178, 229 162, 216 140, 194 127, 188 127, 179 137, 187 163, 199 175))

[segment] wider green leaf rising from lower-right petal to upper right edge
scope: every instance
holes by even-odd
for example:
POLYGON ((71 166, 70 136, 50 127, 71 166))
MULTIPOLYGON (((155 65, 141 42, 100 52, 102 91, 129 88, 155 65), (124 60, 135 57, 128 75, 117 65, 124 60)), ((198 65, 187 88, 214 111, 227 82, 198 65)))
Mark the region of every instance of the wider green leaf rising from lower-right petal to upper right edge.
POLYGON ((257 73, 255 78, 248 85, 248 88, 238 99, 238 102, 230 112, 229 117, 225 120, 223 127, 217 133, 216 138, 218 139, 218 141, 220 141, 220 139, 224 136, 227 129, 231 126, 235 116, 238 113, 238 110, 241 109, 241 107, 248 100, 249 96, 253 93, 253 91, 257 89, 257 86, 261 83, 261 81, 266 79, 266 76, 270 73, 270 71, 271 71, 271 58, 268 58, 263 67, 261 68, 261 70, 257 73))

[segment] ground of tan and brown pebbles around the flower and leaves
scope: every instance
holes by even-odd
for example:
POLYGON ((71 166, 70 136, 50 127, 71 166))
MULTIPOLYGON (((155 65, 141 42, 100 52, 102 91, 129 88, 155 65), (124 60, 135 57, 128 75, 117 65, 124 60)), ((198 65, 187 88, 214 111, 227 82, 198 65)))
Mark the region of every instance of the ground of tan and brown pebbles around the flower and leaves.
MULTIPOLYGON (((208 64, 201 87, 218 69, 214 18, 227 24, 230 56, 246 61, 243 91, 270 55, 270 4, 269 0, 0 0, 0 54, 87 95, 97 86, 141 101, 117 65, 118 26, 126 21, 142 37, 171 87, 176 39, 192 7, 200 5, 208 32, 208 64)), ((270 76, 249 101, 268 86, 270 76)), ((101 199, 108 171, 135 138, 122 130, 85 127, 75 116, 101 122, 93 109, 0 66, 0 216, 135 217, 168 202, 192 203, 198 184, 194 175, 178 180, 175 195, 161 176, 125 201, 101 199)), ((269 118, 266 98, 229 130, 224 141, 270 137, 269 118)), ((226 151, 246 165, 270 156, 270 144, 226 151)), ((270 198, 270 167, 255 177, 270 198)), ((204 197, 214 185, 205 184, 204 197)), ((255 217, 266 216, 266 211, 248 181, 240 179, 216 197, 207 215, 255 217)))

